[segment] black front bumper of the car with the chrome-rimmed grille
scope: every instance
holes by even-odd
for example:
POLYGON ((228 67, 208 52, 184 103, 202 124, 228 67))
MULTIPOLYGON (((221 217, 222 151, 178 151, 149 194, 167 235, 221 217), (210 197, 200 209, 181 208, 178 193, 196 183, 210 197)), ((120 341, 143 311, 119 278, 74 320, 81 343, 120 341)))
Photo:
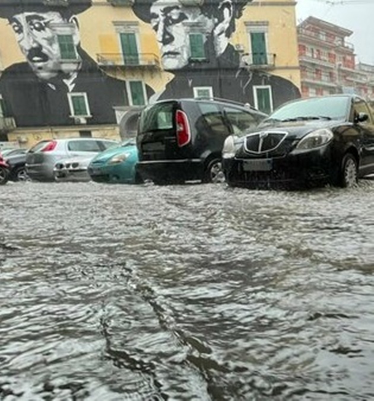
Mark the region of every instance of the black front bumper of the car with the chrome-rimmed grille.
MULTIPOLYGON (((247 161, 260 158, 228 158, 222 160, 226 182, 230 186, 249 188, 292 188, 315 186, 331 181, 335 168, 330 147, 291 152, 283 157, 268 158, 268 167, 256 170, 247 166, 247 161)), ((249 164, 249 163, 248 163, 249 164)), ((262 167, 264 164, 262 165, 262 167)))

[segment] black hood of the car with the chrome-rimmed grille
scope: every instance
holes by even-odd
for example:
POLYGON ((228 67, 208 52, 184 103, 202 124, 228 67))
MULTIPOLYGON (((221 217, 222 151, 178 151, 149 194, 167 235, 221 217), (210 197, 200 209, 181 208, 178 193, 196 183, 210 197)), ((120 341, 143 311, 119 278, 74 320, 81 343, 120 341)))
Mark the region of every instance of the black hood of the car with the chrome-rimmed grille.
POLYGON ((321 128, 333 129, 336 125, 340 125, 343 121, 337 120, 308 120, 308 121, 292 121, 292 122, 270 122, 260 123, 255 129, 246 131, 243 138, 248 134, 260 131, 283 131, 288 133, 288 138, 300 139, 309 134, 309 132, 319 130, 321 128))

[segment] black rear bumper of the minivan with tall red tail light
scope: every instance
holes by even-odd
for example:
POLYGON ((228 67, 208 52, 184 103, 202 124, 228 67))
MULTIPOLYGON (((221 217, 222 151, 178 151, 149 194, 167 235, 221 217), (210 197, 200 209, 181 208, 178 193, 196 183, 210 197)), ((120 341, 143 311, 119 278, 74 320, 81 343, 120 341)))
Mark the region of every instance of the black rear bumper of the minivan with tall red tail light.
POLYGON ((172 184, 182 181, 202 180, 204 164, 201 159, 147 160, 138 162, 136 172, 143 180, 172 184))

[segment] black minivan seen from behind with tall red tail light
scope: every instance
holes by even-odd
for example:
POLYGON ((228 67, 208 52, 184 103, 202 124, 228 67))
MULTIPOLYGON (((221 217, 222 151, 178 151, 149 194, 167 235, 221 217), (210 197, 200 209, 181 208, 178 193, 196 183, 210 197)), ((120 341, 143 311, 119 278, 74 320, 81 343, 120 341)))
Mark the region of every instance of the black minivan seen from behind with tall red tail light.
POLYGON ((254 128, 267 115, 224 99, 170 99, 145 107, 136 136, 137 172, 154 184, 223 182, 227 136, 254 128))

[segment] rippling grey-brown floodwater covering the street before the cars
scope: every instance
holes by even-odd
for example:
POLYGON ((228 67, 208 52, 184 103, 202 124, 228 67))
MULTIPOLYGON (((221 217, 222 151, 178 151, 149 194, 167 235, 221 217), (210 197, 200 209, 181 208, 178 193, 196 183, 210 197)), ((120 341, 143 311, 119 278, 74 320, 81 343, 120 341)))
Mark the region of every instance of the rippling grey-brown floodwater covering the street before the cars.
POLYGON ((374 398, 374 180, 0 187, 1 400, 374 398))

